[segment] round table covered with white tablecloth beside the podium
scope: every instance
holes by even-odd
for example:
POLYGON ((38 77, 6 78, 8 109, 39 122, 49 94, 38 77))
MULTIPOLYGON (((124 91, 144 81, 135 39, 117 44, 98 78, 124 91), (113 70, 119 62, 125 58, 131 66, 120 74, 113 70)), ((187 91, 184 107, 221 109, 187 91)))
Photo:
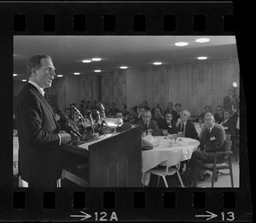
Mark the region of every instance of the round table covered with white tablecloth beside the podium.
POLYGON ((165 161, 169 152, 181 149, 181 161, 185 161, 190 159, 192 153, 196 151, 197 147, 200 145, 198 140, 185 137, 181 137, 181 141, 177 138, 177 144, 174 144, 174 140, 172 140, 172 146, 170 146, 170 141, 170 139, 165 139, 164 136, 154 136, 153 139, 150 140, 154 148, 152 150, 145 150, 142 152, 143 185, 148 186, 150 180, 150 173, 147 171, 165 161))

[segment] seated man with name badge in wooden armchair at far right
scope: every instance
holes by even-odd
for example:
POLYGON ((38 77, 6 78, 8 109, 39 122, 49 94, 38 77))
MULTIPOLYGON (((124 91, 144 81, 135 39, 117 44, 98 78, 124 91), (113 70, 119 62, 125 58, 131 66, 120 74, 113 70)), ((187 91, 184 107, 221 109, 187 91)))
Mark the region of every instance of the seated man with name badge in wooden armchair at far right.
MULTIPOLYGON (((197 151, 192 153, 188 167, 183 174, 184 183, 191 178, 193 187, 197 186, 202 164, 213 163, 214 152, 221 151, 224 144, 224 128, 214 123, 212 115, 205 116, 204 121, 206 128, 202 132, 200 146, 197 151)), ((223 157, 217 157, 217 162, 223 162, 223 157)))

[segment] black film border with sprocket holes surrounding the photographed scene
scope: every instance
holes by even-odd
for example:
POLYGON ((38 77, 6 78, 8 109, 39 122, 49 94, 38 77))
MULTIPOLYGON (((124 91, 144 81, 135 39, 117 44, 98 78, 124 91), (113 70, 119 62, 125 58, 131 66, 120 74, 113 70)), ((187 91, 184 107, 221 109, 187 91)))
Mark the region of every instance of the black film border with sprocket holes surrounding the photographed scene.
MULTIPOLYGON (((241 114, 247 114, 244 88, 245 76, 249 72, 247 59, 244 59, 243 34, 249 33, 251 22, 247 14, 250 6, 242 8, 241 3, 0 3, 0 83, 1 102, 3 105, 1 115, 1 140, 0 140, 0 220, 70 220, 70 214, 79 214, 79 210, 72 207, 74 190, 61 188, 54 191, 56 194, 56 208, 44 210, 43 192, 39 189, 13 187, 12 174, 12 97, 13 97, 13 37, 14 35, 235 35, 238 48, 238 57, 241 68, 241 114), (236 15, 235 31, 224 31, 224 14, 236 15), (26 31, 13 31, 13 15, 26 14, 26 31), (55 14, 55 31, 43 31, 44 14, 55 14), (85 31, 73 31, 73 15, 85 14, 85 31), (116 31, 108 32, 102 29, 102 16, 104 14, 116 15, 116 31), (132 16, 145 14, 147 17, 146 31, 133 31, 132 16), (166 32, 163 30, 162 16, 164 14, 176 14, 177 30, 166 32), (207 30, 193 31, 193 15, 207 14, 207 30), (243 14, 247 14, 246 17, 243 14), (12 193, 15 191, 26 192, 26 209, 19 210, 12 207, 12 193)), ((251 9, 252 10, 252 9, 251 9)), ((252 25, 253 26, 253 25, 252 25)), ((218 214, 233 211, 236 220, 252 220, 251 187, 249 181, 248 157, 252 152, 247 150, 247 117, 241 116, 241 180, 240 188, 86 188, 82 190, 86 195, 86 209, 84 212, 94 214, 105 211, 111 214, 117 213, 119 221, 200 221, 195 214, 203 214, 205 210, 218 214), (143 191, 146 193, 146 209, 136 210, 132 208, 132 193, 143 191), (176 192, 177 208, 163 209, 162 194, 164 192, 176 192), (103 209, 102 193, 116 193, 116 209, 103 209), (193 192, 205 192, 207 196, 206 209, 194 209, 192 207, 193 192), (224 209, 223 193, 236 192, 236 209, 224 209)), ((251 182, 252 184, 252 182, 251 182)), ((110 215, 108 215, 110 216, 110 215)), ((77 219, 79 221, 79 219, 77 219)), ((213 220, 214 221, 214 220, 213 220)))

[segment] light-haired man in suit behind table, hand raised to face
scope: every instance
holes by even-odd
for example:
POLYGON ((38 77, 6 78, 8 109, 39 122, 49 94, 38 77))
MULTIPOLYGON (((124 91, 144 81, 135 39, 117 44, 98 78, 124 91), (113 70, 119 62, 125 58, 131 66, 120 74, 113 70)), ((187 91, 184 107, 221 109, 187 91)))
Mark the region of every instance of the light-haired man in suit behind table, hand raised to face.
POLYGON ((195 125, 189 121, 189 117, 190 112, 188 110, 182 111, 180 118, 177 119, 177 130, 183 132, 183 137, 199 140, 195 125))

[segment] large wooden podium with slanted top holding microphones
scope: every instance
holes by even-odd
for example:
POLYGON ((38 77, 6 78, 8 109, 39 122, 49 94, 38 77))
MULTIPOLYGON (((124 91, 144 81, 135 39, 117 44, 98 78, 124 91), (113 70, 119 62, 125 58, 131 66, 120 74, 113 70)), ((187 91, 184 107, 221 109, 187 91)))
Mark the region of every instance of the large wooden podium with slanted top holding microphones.
POLYGON ((83 187, 141 187, 141 128, 117 129, 104 140, 61 146, 62 179, 83 187), (119 132, 121 131, 121 132, 119 132))

